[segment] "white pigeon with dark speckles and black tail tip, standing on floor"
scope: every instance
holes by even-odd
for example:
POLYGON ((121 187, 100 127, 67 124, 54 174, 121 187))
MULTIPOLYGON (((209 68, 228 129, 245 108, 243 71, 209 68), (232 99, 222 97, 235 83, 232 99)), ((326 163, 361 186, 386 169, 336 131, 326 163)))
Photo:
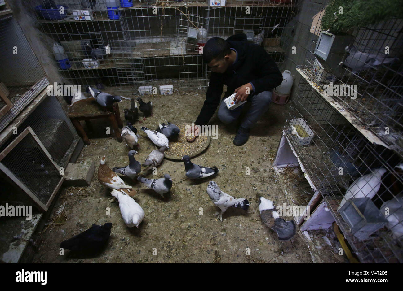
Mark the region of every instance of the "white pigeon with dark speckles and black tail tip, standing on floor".
POLYGON ((245 198, 234 198, 233 196, 226 194, 220 190, 220 187, 216 182, 210 181, 207 185, 207 194, 210 196, 211 201, 214 205, 220 208, 221 212, 214 213, 217 219, 222 221, 222 215, 229 207, 242 208, 243 210, 248 210, 249 201, 245 198))

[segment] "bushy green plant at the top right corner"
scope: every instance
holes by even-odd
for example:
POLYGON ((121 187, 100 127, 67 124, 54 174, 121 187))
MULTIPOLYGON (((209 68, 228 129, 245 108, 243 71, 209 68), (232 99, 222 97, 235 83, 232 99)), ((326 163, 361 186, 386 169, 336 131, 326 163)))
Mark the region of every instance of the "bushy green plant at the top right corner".
POLYGON ((330 0, 322 17, 322 29, 337 35, 390 18, 403 18, 399 0, 330 0), (343 13, 339 13, 340 6, 343 13))

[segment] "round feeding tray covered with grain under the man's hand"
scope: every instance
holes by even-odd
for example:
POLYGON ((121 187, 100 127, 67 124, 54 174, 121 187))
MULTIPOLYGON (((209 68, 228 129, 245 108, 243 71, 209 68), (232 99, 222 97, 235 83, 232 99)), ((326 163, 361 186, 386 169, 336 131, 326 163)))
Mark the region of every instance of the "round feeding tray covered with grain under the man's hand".
POLYGON ((181 132, 177 141, 169 142, 169 149, 165 151, 164 157, 172 160, 181 160, 184 155, 195 157, 205 151, 210 144, 211 136, 198 136, 195 141, 188 142, 186 140, 185 126, 189 123, 176 124, 181 132))

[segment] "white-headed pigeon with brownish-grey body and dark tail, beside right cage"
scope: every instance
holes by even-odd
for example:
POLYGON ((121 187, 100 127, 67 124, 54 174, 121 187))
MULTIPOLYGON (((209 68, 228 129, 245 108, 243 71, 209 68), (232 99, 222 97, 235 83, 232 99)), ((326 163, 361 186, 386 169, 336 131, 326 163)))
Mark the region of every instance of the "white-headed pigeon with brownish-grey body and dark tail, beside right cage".
POLYGON ((294 221, 285 221, 280 218, 271 200, 259 198, 259 211, 262 222, 277 233, 278 239, 289 240, 297 233, 297 225, 294 221))

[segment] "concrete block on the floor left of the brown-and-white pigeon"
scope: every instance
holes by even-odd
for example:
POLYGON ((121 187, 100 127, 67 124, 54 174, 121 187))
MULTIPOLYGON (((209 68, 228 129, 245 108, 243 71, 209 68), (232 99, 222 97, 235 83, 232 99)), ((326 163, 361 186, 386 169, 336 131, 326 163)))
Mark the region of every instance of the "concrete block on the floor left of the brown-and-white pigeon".
POLYGON ((90 166, 87 164, 68 164, 66 170, 64 171, 66 180, 64 180, 63 186, 89 186, 89 184, 91 184, 94 171, 95 161, 93 161, 90 166))

